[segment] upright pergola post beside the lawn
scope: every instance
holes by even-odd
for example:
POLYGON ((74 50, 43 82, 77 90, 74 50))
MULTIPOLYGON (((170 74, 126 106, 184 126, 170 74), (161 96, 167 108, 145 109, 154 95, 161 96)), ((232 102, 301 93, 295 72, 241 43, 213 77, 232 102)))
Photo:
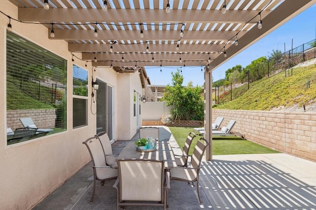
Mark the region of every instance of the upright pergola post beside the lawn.
POLYGON ((209 141, 206 160, 212 160, 212 71, 204 68, 204 138, 209 141))

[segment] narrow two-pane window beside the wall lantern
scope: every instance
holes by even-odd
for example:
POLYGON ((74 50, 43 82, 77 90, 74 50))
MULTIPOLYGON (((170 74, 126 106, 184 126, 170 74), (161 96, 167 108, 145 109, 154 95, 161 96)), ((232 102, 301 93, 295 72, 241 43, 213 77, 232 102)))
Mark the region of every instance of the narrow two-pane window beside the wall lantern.
POLYGON ((88 71, 73 65, 73 128, 87 125, 88 71))

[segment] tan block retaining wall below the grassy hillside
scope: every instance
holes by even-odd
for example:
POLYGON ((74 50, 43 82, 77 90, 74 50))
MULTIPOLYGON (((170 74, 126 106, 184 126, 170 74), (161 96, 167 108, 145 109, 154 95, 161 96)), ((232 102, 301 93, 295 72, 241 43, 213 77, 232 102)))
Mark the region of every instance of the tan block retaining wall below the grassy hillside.
POLYGON ((224 117, 237 123, 233 132, 270 148, 316 161, 316 113, 212 110, 212 119, 224 117))

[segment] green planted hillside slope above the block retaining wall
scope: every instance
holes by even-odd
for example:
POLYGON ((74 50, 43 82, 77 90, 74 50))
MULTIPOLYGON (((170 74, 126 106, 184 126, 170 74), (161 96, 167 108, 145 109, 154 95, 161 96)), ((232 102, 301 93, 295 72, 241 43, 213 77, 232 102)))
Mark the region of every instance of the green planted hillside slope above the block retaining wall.
MULTIPOLYGON (((263 80, 237 99, 214 109, 316 111, 316 59, 293 68, 293 75, 284 72, 263 80), (308 65, 308 66, 307 66, 308 65), (307 88, 309 81, 310 87, 307 88), (305 107, 305 108, 304 108, 305 107)), ((291 70, 287 70, 291 72, 291 70)))

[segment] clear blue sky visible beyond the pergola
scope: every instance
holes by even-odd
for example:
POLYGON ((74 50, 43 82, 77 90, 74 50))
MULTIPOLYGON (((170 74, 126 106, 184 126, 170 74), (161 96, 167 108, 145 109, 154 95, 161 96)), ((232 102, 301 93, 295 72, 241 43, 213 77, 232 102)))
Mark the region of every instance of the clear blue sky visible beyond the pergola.
MULTIPOLYGON (((268 57, 272 50, 278 49, 284 52, 284 43, 285 50, 290 50, 292 39, 293 48, 295 48, 315 38, 316 4, 213 70, 213 81, 225 78, 225 71, 229 68, 236 65, 246 67, 259 57, 268 57)), ((145 67, 145 69, 152 85, 167 85, 171 84, 171 71, 175 72, 177 67, 162 67, 161 72, 160 67, 145 67)), ((184 77, 183 85, 187 85, 189 81, 192 81, 194 86, 203 85, 204 76, 201 67, 182 67, 181 70, 184 77)))

